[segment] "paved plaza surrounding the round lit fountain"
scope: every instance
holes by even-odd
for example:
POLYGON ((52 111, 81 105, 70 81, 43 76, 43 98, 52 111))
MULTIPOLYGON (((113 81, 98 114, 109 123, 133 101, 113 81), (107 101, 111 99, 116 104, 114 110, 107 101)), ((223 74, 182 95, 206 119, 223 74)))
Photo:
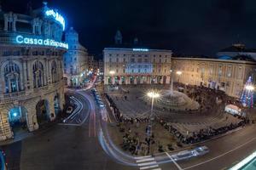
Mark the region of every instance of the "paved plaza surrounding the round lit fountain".
MULTIPOLYGON (((166 131, 174 134, 177 137, 176 139, 180 139, 183 142, 186 141, 184 143, 189 144, 191 142, 184 139, 195 137, 198 134, 201 134, 204 139, 209 139, 213 135, 226 133, 244 125, 245 120, 241 117, 232 116, 224 112, 224 106, 227 103, 235 102, 235 99, 210 88, 184 86, 181 84, 177 86, 176 84, 174 89, 177 90, 180 87, 183 87, 184 95, 189 96, 189 99, 199 104, 198 109, 193 111, 177 110, 177 108, 166 109, 160 103, 165 99, 162 96, 154 101, 153 108, 154 122, 160 123, 166 128, 166 131)), ((108 99, 112 100, 116 108, 114 111, 118 113, 122 120, 121 122, 132 124, 134 121, 136 123, 137 120, 148 120, 151 113, 151 99, 146 94, 152 89, 163 95, 163 92, 168 93, 170 86, 119 86, 118 88, 108 88, 107 95, 108 99)), ((127 125, 125 127, 130 128, 127 125)), ((160 139, 158 140, 161 141, 160 139)), ((201 140, 195 140, 195 142, 199 141, 201 140)))

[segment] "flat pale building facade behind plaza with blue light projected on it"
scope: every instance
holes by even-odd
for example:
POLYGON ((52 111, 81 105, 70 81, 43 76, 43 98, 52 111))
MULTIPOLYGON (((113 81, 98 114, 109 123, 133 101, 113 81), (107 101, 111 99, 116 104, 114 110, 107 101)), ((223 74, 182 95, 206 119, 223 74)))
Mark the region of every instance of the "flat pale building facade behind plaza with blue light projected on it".
POLYGON ((170 83, 172 51, 104 48, 104 84, 170 83))

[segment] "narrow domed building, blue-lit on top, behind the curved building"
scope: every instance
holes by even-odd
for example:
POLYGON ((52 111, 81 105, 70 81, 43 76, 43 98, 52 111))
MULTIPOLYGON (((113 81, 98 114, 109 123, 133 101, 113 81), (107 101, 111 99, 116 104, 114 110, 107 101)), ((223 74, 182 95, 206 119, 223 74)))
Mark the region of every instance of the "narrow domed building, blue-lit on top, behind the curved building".
POLYGON ((64 77, 68 86, 81 85, 89 70, 87 49, 79 43, 79 34, 71 27, 65 35, 64 77))

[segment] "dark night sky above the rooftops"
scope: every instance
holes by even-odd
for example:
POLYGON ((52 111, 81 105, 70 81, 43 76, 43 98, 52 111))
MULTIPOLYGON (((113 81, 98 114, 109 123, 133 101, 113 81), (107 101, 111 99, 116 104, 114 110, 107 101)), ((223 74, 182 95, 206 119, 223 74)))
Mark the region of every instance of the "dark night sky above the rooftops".
MULTIPOLYGON (((243 42, 256 48, 255 0, 51 0, 67 26, 79 32, 90 54, 113 44, 117 29, 123 42, 172 49, 177 54, 215 55, 243 42), (238 38, 239 37, 239 38, 238 38)), ((4 11, 26 12, 28 0, 2 0, 4 11)), ((39 8, 42 1, 33 0, 39 8)))

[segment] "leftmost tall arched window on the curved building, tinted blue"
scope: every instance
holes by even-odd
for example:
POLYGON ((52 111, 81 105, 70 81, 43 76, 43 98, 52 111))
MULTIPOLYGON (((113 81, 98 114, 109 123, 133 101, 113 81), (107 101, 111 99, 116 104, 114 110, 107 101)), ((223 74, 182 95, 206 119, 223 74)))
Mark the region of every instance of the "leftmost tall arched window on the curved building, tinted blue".
POLYGON ((6 93, 15 93, 21 90, 20 68, 11 61, 4 67, 4 82, 6 93))

